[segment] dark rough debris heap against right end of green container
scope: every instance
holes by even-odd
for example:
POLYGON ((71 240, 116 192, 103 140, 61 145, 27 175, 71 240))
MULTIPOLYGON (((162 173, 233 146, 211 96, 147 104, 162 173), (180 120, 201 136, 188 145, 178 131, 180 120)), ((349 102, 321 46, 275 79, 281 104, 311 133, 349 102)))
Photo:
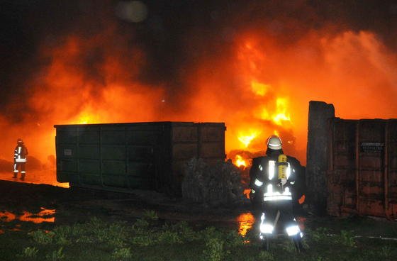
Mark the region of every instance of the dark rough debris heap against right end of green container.
POLYGON ((212 166, 193 158, 184 167, 182 197, 210 206, 230 206, 247 201, 240 172, 231 160, 212 166))

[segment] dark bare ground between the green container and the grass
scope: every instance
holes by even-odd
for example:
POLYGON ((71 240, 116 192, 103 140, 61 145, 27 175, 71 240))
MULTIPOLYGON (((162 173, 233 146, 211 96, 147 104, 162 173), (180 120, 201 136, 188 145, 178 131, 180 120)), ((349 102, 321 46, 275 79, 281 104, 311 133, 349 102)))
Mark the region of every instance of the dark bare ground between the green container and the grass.
POLYGON ((250 204, 210 208, 172 199, 155 191, 135 190, 124 194, 0 180, 0 214, 13 213, 16 218, 28 211, 33 218, 48 218, 56 225, 84 222, 94 216, 108 221, 135 221, 147 210, 156 211, 160 219, 167 221, 236 229, 241 225, 241 216, 247 216, 247 213, 250 216, 250 204), (55 211, 38 216, 43 209, 55 211))

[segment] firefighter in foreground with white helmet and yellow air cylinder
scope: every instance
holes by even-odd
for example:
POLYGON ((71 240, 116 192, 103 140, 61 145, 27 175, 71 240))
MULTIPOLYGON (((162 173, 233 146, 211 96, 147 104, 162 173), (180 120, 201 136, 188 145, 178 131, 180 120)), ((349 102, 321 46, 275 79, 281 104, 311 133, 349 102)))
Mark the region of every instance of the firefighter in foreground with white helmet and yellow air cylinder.
POLYGON ((250 199, 265 250, 269 250, 269 238, 275 234, 277 223, 283 225, 296 250, 303 250, 303 233, 293 217, 293 189, 301 169, 296 158, 284 155, 281 138, 276 135, 267 139, 266 156, 252 159, 250 199))

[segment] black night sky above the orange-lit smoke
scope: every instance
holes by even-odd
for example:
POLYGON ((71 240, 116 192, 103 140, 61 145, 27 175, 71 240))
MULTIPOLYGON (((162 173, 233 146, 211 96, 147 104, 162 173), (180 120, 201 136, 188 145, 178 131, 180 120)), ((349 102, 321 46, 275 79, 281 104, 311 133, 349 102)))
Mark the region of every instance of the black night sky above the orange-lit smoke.
MULTIPOLYGON (((340 30, 370 30, 389 48, 397 50, 396 1, 142 1, 147 18, 139 23, 116 16, 120 1, 1 1, 0 111, 11 121, 20 121, 26 82, 48 62, 38 59, 40 46, 62 43, 65 35, 82 38, 105 30, 108 25, 144 49, 148 62, 140 80, 181 88, 186 67, 203 56, 227 55, 225 43, 241 28, 273 27, 280 45, 299 40, 308 30, 329 33, 340 30), (186 39, 197 43, 194 52, 185 49, 186 39), (12 116, 12 117, 11 117, 12 116)), ((101 60, 101 50, 84 57, 87 66, 101 60)), ((93 74, 95 74, 95 70, 93 74)))

